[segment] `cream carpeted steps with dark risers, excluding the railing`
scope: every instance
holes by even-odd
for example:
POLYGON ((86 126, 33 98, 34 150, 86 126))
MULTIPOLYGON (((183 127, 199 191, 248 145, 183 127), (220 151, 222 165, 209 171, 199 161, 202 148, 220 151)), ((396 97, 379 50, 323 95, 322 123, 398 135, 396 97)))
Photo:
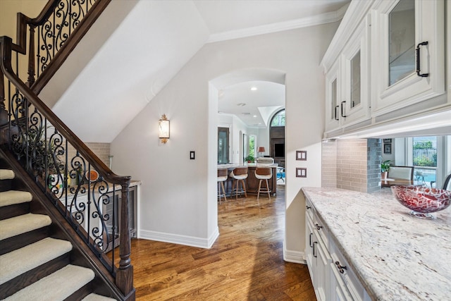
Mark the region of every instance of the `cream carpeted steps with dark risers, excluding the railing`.
POLYGON ((92 293, 96 275, 21 180, 0 161, 0 300, 115 300, 92 293))

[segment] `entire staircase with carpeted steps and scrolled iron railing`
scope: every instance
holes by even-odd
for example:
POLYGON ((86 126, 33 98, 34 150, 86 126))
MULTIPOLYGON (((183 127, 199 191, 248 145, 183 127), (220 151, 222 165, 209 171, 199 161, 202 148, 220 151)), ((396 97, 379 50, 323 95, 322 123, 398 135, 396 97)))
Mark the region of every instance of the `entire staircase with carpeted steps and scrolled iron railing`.
POLYGON ((38 97, 110 1, 49 0, 0 37, 0 300, 135 300, 130 176, 38 97))

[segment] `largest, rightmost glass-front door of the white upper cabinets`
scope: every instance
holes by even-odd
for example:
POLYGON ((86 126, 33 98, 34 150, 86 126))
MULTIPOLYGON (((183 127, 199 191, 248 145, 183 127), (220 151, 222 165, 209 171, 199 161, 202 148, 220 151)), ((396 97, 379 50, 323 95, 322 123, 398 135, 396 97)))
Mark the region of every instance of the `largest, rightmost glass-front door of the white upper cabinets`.
POLYGON ((443 0, 380 1, 373 10, 372 115, 445 92, 443 0))

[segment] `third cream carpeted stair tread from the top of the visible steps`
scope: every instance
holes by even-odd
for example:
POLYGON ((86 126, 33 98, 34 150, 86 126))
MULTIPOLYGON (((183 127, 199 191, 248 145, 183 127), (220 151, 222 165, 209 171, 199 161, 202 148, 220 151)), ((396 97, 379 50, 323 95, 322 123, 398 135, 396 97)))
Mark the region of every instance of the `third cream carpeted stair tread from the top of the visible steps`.
POLYGON ((51 224, 51 219, 42 214, 23 214, 0 221, 0 240, 27 233, 51 224))

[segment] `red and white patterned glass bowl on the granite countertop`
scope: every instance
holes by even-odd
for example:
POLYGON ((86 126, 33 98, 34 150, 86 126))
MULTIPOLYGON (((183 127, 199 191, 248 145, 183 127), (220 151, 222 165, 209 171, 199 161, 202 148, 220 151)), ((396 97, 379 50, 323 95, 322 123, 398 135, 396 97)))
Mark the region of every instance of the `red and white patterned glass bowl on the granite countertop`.
POLYGON ((410 214, 423 219, 433 219, 432 212, 450 206, 450 190, 402 185, 392 186, 391 189, 395 198, 402 205, 412 210, 410 214))

